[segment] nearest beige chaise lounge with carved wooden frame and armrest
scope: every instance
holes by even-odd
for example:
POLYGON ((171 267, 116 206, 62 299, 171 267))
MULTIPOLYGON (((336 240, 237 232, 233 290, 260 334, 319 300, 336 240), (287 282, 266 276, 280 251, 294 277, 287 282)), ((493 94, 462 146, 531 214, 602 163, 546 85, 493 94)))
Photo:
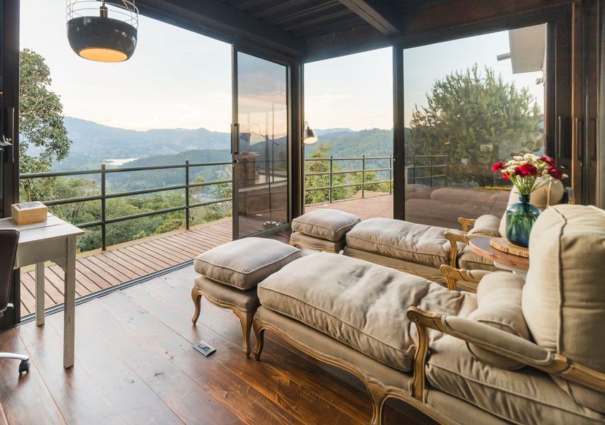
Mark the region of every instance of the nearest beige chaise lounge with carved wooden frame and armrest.
POLYGON ((264 332, 443 424, 605 423, 605 212, 559 205, 531 233, 526 282, 487 273, 477 294, 367 261, 312 254, 259 283, 264 332), (415 324, 415 326, 414 326, 415 324))

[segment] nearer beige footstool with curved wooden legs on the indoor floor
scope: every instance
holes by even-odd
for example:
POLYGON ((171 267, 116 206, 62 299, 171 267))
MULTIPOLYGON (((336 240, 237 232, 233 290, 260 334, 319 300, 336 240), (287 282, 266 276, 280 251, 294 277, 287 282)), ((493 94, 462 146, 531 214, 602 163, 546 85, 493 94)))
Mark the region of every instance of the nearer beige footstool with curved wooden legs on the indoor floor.
POLYGON ((242 324, 244 353, 249 357, 250 329, 259 307, 256 284, 301 256, 294 246, 259 237, 238 239, 200 254, 193 261, 201 275, 191 290, 196 308, 193 324, 200 317, 202 296, 217 307, 232 310, 242 324))

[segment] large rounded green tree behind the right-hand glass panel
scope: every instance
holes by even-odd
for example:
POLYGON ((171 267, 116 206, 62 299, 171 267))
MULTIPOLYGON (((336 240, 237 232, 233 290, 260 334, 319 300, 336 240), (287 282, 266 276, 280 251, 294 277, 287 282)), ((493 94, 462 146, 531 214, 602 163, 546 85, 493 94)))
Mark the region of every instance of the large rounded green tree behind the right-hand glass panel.
POLYGON ((475 64, 436 81, 426 102, 414 108, 409 123, 413 154, 448 154, 455 167, 468 158, 468 168, 475 166, 477 172, 478 166, 492 178, 489 167, 498 159, 536 152, 543 145, 543 115, 536 99, 489 67, 482 73, 475 64))

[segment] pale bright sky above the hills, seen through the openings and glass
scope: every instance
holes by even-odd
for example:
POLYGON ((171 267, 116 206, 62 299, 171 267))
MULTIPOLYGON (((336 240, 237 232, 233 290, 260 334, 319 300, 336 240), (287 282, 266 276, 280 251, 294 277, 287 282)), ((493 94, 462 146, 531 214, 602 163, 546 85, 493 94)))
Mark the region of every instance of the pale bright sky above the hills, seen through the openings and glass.
MULTIPOLYGON (((140 16, 135 54, 107 64, 78 57, 67 42, 63 0, 21 0, 21 48, 45 57, 64 114, 112 127, 230 131, 231 46, 140 16)), ((405 123, 437 79, 475 62, 528 86, 543 106, 540 72, 512 74, 507 32, 408 49, 405 123)), ((392 49, 305 65, 305 118, 312 128, 392 128, 392 49)))

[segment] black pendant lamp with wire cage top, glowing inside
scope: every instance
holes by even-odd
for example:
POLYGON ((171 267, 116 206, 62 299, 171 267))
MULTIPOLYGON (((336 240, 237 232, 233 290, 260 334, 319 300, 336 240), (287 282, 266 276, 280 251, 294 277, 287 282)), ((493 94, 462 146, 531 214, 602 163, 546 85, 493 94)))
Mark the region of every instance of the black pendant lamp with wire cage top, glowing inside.
POLYGON ((67 0, 67 39, 80 57, 123 62, 137 47, 134 1, 67 0))

